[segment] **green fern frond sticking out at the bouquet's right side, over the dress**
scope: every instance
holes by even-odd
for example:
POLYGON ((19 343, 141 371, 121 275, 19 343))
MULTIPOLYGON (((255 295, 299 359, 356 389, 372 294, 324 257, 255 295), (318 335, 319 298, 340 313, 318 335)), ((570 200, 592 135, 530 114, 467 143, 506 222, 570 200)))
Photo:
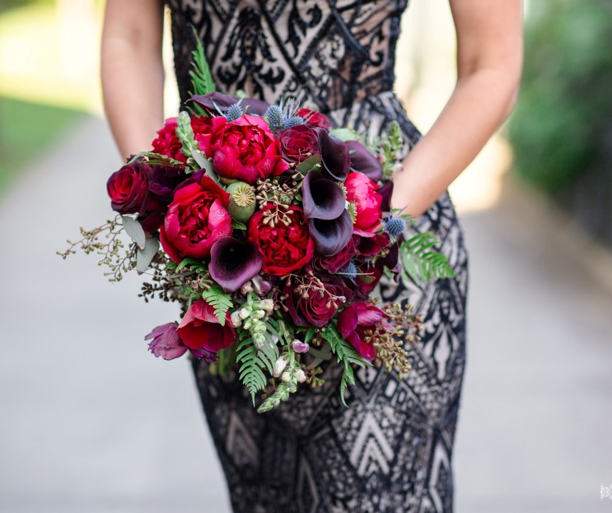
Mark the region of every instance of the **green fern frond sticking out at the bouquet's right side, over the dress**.
POLYGON ((431 232, 416 234, 400 246, 403 270, 420 281, 454 278, 455 272, 445 254, 432 251, 440 241, 431 232))

